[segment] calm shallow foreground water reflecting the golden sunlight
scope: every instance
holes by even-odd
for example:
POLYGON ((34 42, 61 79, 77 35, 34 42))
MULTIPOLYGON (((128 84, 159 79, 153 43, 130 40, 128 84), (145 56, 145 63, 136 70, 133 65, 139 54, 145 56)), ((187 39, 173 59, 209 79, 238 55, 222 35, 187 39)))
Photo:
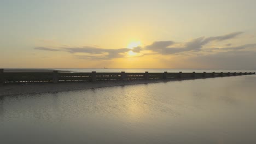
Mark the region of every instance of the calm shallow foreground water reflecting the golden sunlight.
POLYGON ((0 97, 0 143, 256 143, 256 75, 0 97))

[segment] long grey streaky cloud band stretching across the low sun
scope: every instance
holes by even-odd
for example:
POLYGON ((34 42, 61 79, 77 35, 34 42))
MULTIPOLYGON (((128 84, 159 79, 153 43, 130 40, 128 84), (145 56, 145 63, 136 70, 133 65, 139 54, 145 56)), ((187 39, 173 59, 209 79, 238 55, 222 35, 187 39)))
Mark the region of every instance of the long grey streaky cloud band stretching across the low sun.
POLYGON ((147 55, 173 55, 173 56, 202 56, 213 55, 214 53, 223 53, 230 51, 252 50, 256 48, 256 44, 245 44, 240 46, 231 46, 225 44, 224 46, 207 47, 207 44, 212 41, 224 41, 234 39, 243 32, 235 32, 217 37, 199 37, 188 42, 178 43, 172 40, 169 41, 155 41, 151 45, 144 47, 134 47, 132 50, 127 48, 121 49, 102 49, 97 46, 84 46, 84 47, 59 47, 53 49, 51 47, 35 47, 35 50, 43 51, 64 51, 69 52, 79 59, 113 59, 126 57, 129 51, 139 53, 139 57, 147 55), (148 51, 148 52, 146 52, 148 51))

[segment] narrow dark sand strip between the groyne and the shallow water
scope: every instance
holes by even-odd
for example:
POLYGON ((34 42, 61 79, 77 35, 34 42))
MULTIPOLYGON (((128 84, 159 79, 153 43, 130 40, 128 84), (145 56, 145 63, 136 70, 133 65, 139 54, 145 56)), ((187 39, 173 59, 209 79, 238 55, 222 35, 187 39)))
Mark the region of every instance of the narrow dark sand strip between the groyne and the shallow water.
POLYGON ((78 91, 90 88, 102 88, 146 83, 167 82, 173 80, 115 80, 97 82, 60 82, 60 83, 18 83, 0 87, 0 97, 7 95, 37 94, 49 92, 78 91))

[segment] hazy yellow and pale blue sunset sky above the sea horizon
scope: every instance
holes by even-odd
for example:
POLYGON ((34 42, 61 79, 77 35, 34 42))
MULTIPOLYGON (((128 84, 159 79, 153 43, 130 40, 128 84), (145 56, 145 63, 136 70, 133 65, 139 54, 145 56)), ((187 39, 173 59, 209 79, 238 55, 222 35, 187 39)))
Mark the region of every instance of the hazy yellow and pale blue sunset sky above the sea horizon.
POLYGON ((0 68, 256 69, 255 5, 0 0, 0 68))

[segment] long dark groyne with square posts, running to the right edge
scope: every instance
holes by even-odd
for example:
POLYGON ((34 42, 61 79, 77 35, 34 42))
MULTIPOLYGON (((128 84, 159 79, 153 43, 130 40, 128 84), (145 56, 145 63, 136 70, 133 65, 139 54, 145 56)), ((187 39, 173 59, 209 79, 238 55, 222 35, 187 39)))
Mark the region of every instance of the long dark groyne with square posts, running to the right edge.
POLYGON ((62 71, 53 70, 50 72, 7 72, 4 69, 0 69, 0 86, 4 83, 28 83, 28 82, 65 82, 65 81, 106 81, 106 80, 150 80, 150 79, 168 79, 168 80, 187 80, 187 79, 206 79, 213 77, 226 77, 226 76, 237 76, 237 75, 252 75, 255 72, 220 72, 220 73, 66 73, 62 71))

